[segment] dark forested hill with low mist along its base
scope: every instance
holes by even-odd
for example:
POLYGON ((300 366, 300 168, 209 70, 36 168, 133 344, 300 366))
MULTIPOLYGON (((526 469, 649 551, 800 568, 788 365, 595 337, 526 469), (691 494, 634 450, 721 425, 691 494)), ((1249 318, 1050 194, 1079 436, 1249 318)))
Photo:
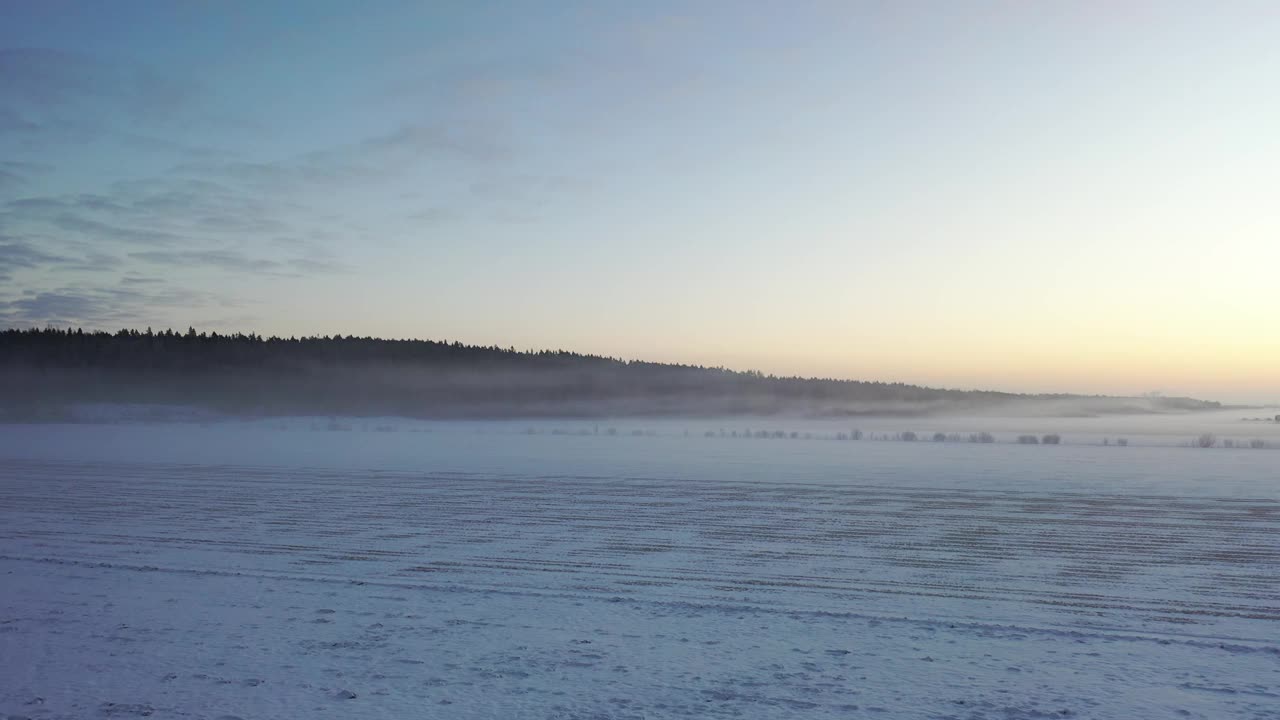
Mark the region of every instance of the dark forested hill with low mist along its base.
POLYGON ((164 404, 252 415, 1082 415, 1221 407, 1183 397, 1016 395, 765 375, 497 346, 150 329, 0 332, 0 413, 164 404))

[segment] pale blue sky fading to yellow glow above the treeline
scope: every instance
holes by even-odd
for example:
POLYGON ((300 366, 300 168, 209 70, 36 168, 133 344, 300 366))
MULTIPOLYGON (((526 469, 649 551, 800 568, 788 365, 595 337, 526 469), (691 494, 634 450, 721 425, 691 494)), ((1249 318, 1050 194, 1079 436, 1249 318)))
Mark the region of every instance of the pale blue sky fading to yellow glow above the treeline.
POLYGON ((1280 401, 1274 3, 0 0, 0 325, 1280 401))

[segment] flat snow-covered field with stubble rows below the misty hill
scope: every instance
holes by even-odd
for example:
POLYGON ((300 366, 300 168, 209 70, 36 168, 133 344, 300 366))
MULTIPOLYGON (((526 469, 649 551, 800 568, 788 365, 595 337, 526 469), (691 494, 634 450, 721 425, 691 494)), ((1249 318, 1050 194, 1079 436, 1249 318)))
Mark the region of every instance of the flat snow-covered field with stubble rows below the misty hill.
POLYGON ((1073 423, 0 425, 0 717, 1280 717, 1280 451, 1073 423))

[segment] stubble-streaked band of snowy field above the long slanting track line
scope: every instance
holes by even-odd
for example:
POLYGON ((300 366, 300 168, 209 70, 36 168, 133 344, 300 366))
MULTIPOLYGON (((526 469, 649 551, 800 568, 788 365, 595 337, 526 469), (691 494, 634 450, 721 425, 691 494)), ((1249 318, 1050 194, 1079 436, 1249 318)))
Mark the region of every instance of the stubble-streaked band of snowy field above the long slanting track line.
POLYGON ((8 462, 0 520, 15 557, 1280 634, 1280 503, 1262 498, 8 462))

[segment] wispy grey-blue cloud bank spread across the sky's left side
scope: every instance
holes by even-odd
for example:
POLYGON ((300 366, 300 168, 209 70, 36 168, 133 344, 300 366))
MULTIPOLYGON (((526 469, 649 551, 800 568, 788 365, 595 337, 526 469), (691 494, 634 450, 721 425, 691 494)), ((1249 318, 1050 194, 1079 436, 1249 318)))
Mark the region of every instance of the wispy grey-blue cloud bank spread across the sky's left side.
MULTIPOLYGON (((570 67, 553 64, 538 72, 570 67)), ((180 67, 197 65, 0 50, 0 156, 12 158, 0 160, 0 319, 116 322, 187 307, 195 295, 159 292, 178 281, 351 273, 360 242, 535 222, 572 186, 522 170, 497 117, 398 106, 358 133, 317 118, 321 129, 298 132, 307 141, 264 142, 303 128, 243 102, 252 92, 223 87, 238 99, 228 104, 216 73, 180 67)))

